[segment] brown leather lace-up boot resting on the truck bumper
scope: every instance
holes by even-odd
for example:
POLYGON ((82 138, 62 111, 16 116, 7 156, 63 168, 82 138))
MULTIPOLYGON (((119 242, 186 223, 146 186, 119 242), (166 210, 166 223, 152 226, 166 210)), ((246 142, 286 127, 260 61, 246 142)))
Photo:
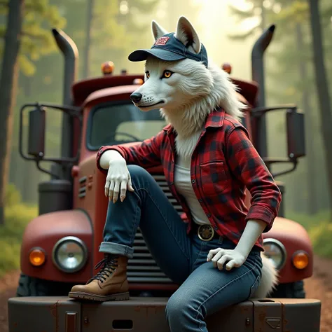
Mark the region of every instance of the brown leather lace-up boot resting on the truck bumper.
POLYGON ((95 266, 96 269, 101 267, 97 275, 85 285, 73 286, 69 298, 99 302, 129 300, 127 261, 125 256, 105 254, 105 258, 95 266))

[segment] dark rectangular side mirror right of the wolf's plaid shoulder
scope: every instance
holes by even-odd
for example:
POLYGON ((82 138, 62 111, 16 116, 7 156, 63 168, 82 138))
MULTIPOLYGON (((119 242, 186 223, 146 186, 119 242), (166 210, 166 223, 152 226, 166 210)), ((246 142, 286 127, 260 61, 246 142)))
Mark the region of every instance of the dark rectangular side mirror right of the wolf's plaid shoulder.
POLYGON ((304 114, 296 109, 288 109, 286 113, 287 148, 291 159, 305 155, 305 123, 304 114))

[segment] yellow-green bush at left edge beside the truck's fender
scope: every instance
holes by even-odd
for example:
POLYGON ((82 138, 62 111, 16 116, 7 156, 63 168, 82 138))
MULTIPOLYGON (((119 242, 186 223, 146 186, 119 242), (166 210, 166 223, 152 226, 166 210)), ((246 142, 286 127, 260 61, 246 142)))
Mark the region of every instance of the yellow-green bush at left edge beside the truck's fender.
POLYGON ((25 227, 38 215, 35 206, 23 204, 13 184, 6 188, 5 225, 0 227, 0 277, 20 268, 20 245, 25 227))

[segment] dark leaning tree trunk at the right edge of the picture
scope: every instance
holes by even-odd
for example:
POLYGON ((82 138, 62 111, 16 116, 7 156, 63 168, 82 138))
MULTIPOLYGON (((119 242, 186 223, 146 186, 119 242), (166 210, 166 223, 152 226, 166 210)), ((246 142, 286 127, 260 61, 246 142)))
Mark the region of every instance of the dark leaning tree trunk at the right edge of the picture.
MULTIPOLYGON (((314 55, 314 72, 316 78, 319 110, 321 112, 321 131, 325 148, 326 172, 328 176, 328 188, 330 192, 330 209, 332 208, 332 114, 331 101, 326 77, 324 50, 321 36, 321 23, 319 17, 319 0, 309 0, 310 25, 312 30, 312 48, 314 55)), ((314 162, 314 160, 312 160, 314 162)))

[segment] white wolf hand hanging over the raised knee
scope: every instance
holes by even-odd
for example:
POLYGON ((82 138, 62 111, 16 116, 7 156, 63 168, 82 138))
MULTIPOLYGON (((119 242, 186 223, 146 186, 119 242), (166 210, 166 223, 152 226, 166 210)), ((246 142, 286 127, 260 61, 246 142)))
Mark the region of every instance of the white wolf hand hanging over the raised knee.
POLYGON ((109 172, 106 177, 105 196, 109 196, 109 200, 113 200, 113 203, 115 203, 118 200, 120 193, 120 201, 123 202, 127 189, 129 191, 134 191, 125 159, 118 154, 109 160, 109 172))

